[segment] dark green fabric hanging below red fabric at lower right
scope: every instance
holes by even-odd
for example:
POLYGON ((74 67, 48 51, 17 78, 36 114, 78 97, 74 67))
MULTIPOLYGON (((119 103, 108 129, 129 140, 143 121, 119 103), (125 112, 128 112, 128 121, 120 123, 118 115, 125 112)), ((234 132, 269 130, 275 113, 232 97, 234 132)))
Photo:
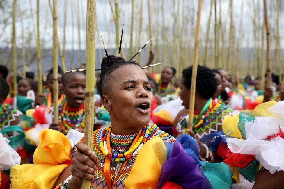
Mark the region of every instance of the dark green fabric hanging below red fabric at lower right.
POLYGON ((253 181, 255 181, 256 175, 258 173, 259 162, 256 159, 254 159, 246 167, 244 168, 236 167, 236 168, 239 171, 239 173, 242 174, 242 176, 244 176, 246 180, 252 183, 253 181))

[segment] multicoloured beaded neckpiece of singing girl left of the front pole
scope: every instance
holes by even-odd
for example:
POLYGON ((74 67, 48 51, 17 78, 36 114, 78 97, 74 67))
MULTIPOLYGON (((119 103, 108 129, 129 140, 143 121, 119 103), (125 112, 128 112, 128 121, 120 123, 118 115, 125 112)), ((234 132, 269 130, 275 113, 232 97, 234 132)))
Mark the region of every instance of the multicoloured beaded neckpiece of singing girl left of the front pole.
POLYGON ((85 103, 78 108, 69 108, 67 106, 67 101, 65 101, 60 110, 59 119, 61 120, 61 129, 65 133, 67 133, 70 129, 84 128, 85 103))

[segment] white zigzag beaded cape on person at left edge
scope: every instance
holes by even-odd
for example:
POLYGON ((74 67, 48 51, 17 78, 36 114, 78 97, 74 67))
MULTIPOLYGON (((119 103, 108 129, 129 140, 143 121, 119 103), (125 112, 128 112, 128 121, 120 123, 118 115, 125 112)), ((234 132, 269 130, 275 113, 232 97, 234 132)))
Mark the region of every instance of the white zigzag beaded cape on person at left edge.
POLYGON ((0 113, 0 127, 5 128, 10 126, 11 122, 15 121, 15 117, 19 117, 22 114, 19 110, 13 108, 13 106, 9 104, 2 104, 3 108, 0 113))

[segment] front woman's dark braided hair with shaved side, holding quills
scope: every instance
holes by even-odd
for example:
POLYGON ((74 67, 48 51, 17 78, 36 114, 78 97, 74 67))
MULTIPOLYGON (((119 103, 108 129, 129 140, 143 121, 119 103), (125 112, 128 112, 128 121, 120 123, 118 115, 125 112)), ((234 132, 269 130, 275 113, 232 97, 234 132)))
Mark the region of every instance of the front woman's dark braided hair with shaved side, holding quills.
POLYGON ((109 55, 108 58, 104 57, 102 59, 102 72, 100 74, 101 80, 99 90, 102 92, 103 95, 105 94, 105 87, 107 85, 107 82, 111 82, 111 73, 116 69, 129 64, 139 66, 136 61, 126 61, 125 59, 114 55, 109 55))

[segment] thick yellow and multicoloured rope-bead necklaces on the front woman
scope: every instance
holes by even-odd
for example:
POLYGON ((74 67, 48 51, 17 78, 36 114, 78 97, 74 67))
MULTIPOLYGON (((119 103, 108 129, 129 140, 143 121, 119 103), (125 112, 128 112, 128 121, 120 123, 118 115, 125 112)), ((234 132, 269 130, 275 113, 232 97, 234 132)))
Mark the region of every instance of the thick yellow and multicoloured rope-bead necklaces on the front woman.
POLYGON ((110 141, 107 140, 107 136, 110 135, 110 132, 111 132, 111 125, 109 125, 108 127, 106 127, 106 129, 102 133, 102 137, 100 141, 100 148, 102 150, 102 153, 115 162, 128 161, 129 159, 137 155, 142 145, 146 142, 149 136, 149 129, 150 129, 150 124, 145 125, 141 129, 141 132, 139 132, 140 135, 138 134, 136 136, 136 138, 139 137, 138 141, 135 143, 135 145, 133 145, 133 147, 131 147, 126 152, 121 153, 121 154, 111 154, 111 152, 109 152, 107 149, 107 145, 109 145, 110 143, 110 141))

